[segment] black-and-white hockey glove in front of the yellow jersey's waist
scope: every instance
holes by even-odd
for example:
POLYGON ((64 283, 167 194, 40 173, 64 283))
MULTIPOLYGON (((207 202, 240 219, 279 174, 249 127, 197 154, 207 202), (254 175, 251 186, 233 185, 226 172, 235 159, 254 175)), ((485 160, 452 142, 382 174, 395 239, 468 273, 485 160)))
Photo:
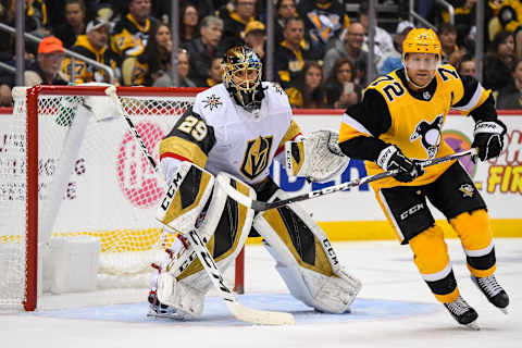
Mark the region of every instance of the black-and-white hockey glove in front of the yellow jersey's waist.
POLYGON ((385 171, 399 170, 399 173, 394 177, 401 183, 413 182, 424 174, 420 162, 407 158, 395 145, 390 145, 381 151, 377 164, 385 171))

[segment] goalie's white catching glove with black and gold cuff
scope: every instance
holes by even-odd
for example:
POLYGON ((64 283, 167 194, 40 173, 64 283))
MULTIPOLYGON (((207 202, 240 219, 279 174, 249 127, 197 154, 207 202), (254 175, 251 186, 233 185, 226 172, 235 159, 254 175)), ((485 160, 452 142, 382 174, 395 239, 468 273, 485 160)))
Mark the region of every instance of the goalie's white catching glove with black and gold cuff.
POLYGON ((337 144, 338 138, 338 133, 321 129, 300 140, 287 141, 285 152, 288 176, 324 182, 341 173, 350 159, 343 154, 337 144))

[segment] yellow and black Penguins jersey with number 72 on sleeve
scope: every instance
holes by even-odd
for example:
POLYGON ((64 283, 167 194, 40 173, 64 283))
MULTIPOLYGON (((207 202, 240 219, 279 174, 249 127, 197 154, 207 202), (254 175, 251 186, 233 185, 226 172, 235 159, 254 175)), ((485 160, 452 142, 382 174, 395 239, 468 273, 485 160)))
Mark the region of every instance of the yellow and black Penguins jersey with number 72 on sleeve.
MULTIPOLYGON (((472 77, 461 78, 449 64, 438 67, 432 83, 420 92, 409 88, 405 70, 397 70, 375 79, 364 90, 362 102, 346 110, 339 146, 347 156, 366 160, 369 175, 383 172, 374 162, 389 145, 396 145, 410 159, 444 157, 453 153, 442 138, 450 109, 472 113, 475 121, 497 117, 490 91, 472 77)), ((372 186, 425 185, 451 163, 428 166, 424 175, 411 183, 390 177, 372 186)))

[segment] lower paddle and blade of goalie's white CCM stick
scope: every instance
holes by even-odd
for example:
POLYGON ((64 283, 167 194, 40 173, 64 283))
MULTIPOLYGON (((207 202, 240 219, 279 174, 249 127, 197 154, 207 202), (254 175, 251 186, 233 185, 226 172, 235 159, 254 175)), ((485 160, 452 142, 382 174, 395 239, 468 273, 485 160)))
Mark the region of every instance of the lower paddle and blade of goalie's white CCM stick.
POLYGON ((214 287, 220 293, 220 296, 225 300, 226 307, 231 313, 240 321, 259 324, 259 325, 291 325, 296 321, 294 315, 285 312, 271 312, 257 310, 249 307, 245 307, 237 302, 234 291, 225 284, 223 276, 221 275, 214 259, 209 253, 207 247, 204 247, 201 237, 197 231, 192 229, 188 233, 190 244, 198 254, 201 264, 209 273, 214 287))

